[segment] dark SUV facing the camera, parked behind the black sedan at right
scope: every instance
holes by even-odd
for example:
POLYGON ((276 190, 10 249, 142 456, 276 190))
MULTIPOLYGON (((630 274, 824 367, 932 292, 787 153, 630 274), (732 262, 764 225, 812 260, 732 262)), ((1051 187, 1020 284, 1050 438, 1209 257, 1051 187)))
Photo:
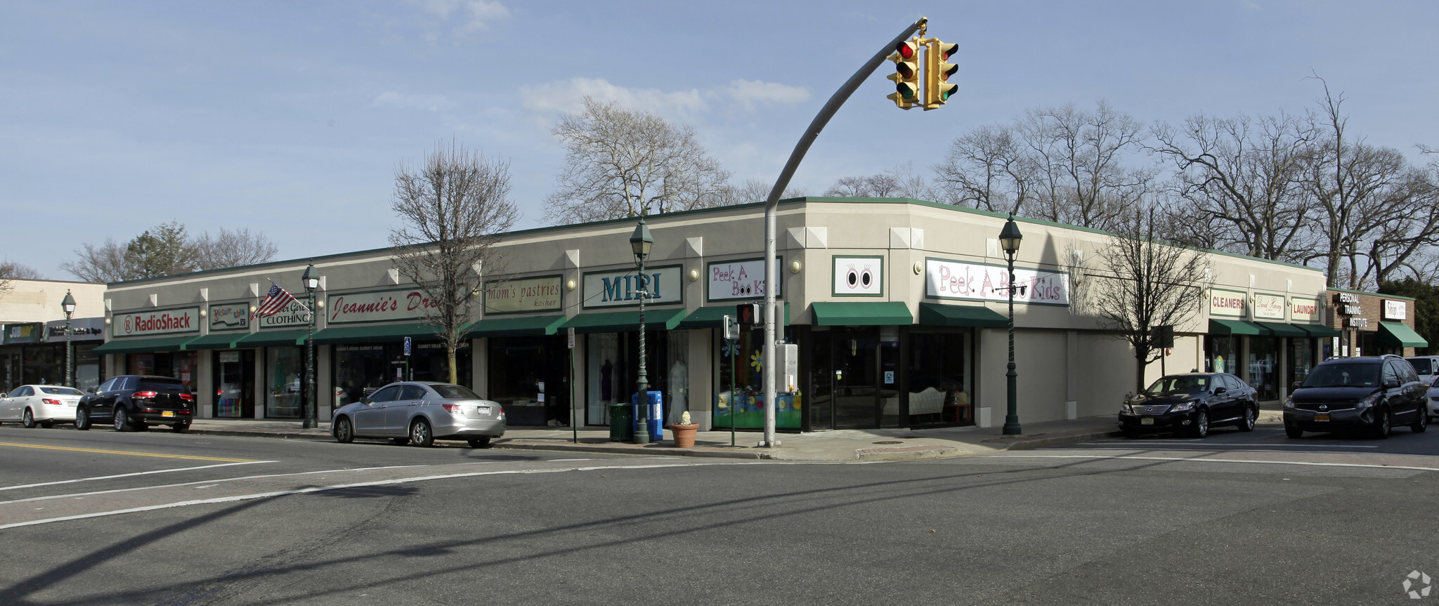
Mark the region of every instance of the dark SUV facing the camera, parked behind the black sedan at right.
POLYGON ((1284 400, 1284 433, 1364 429, 1389 438, 1396 425, 1419 433, 1429 428, 1426 392, 1415 367, 1399 356, 1330 358, 1284 400))

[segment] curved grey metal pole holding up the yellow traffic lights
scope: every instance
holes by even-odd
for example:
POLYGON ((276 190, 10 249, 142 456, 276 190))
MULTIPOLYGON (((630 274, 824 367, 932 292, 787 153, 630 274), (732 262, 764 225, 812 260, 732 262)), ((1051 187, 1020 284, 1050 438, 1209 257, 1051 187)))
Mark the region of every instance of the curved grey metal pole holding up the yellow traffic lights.
POLYGON ((859 85, 865 82, 865 78, 869 78, 869 75, 885 62, 885 58, 894 52, 895 45, 904 42, 909 37, 909 35, 922 30, 928 23, 930 20, 927 17, 920 17, 918 22, 907 26, 899 36, 889 40, 878 53, 875 53, 875 56, 869 58, 869 60, 866 60, 853 76, 849 76, 849 81, 846 81, 839 91, 835 91, 835 95, 829 98, 825 107, 820 108, 819 115, 814 117, 814 121, 812 121, 809 128, 804 130, 804 135, 800 137, 800 141, 794 144, 794 151, 790 153, 790 160, 784 163, 784 170, 780 171, 780 178, 774 180, 774 189, 770 190, 770 197, 764 200, 764 439, 760 442, 760 446, 773 448, 780 445, 780 442, 774 438, 774 321, 777 315, 774 309, 774 272, 777 271, 774 266, 774 240, 777 232, 776 226, 778 223, 780 196, 784 193, 784 189, 789 187, 790 178, 794 177, 794 170, 799 168, 800 160, 804 160, 804 154, 809 151, 810 145, 814 144, 814 140, 819 138, 819 131, 825 130, 825 125, 829 124, 829 118, 839 111, 840 105, 845 105, 849 95, 853 95, 855 91, 859 89, 859 85))

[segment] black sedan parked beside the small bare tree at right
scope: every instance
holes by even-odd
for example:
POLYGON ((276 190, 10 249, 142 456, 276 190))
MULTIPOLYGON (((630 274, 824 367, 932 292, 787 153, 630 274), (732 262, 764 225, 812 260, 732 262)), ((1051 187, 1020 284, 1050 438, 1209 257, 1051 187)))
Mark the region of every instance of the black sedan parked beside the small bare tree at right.
POLYGON ((1258 392, 1227 373, 1167 374, 1120 407, 1120 429, 1134 438, 1144 432, 1179 430, 1194 438, 1216 425, 1255 429, 1258 392))

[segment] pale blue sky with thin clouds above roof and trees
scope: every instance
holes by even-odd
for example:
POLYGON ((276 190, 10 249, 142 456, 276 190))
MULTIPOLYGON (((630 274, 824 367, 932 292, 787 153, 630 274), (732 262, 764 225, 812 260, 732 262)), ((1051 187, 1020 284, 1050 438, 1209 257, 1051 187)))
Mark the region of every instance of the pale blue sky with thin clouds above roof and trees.
MULTIPOLYGON (((1373 144, 1439 145, 1432 1, 26 1, 0 6, 0 258, 52 279, 83 242, 249 227, 282 259, 381 248, 394 168, 455 138, 511 163, 544 223, 584 95, 694 125, 773 181, 814 112, 917 17, 960 91, 899 111, 881 66, 793 181, 909 163, 1025 109, 1099 99, 1153 122, 1302 112, 1343 92, 1373 144)), ((758 238, 758 236, 757 236, 758 238)), ((757 240, 755 248, 763 242, 757 240)))

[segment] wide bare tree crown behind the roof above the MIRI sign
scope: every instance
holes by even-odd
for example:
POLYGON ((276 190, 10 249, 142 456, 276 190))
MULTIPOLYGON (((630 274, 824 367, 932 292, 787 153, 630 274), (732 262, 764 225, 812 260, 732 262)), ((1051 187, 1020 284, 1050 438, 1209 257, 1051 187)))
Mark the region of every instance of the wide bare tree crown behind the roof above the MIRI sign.
POLYGON ((720 206, 730 173, 711 158, 694 128, 584 98, 584 111, 566 114, 551 131, 564 141, 564 168, 545 199, 557 223, 720 206))

